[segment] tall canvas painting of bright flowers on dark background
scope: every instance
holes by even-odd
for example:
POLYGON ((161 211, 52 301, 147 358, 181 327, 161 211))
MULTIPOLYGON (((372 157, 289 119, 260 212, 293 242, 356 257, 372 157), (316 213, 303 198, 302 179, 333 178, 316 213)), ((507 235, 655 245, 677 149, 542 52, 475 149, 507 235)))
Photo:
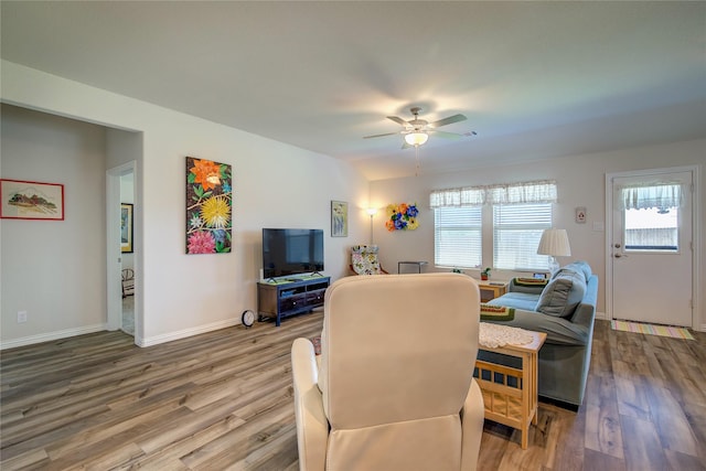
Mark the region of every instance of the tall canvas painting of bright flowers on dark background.
POLYGON ((232 245, 231 165, 186 158, 186 254, 227 254, 232 245))

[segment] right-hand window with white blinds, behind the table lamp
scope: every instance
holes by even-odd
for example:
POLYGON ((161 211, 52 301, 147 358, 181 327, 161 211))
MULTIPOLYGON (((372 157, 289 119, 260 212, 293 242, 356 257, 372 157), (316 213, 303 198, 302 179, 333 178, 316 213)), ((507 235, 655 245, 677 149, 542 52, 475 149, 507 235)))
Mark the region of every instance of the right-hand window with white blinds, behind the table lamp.
POLYGON ((493 205, 493 267, 548 269, 549 257, 537 255, 537 246, 550 227, 552 203, 493 205))

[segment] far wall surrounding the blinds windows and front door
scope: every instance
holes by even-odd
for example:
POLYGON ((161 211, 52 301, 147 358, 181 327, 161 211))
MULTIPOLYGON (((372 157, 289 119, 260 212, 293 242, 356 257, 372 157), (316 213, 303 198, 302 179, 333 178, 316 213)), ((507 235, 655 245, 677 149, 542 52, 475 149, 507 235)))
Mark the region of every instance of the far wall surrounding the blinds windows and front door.
MULTIPOLYGON (((472 146, 472 144, 471 144, 472 146)), ((472 150, 470 150, 472 151, 472 150)), ((419 175, 405 179, 375 181, 371 183, 371 203, 381 208, 375 216, 375 242, 381 246, 381 260, 388 271, 397 271, 398 260, 428 260, 434 270, 434 213, 429 210, 429 192, 436 189, 510 183, 520 181, 554 179, 558 185, 558 203, 555 206, 554 224, 568 231, 571 257, 559 261, 582 259, 591 265, 600 277, 598 311, 606 312, 606 234, 593 231, 593 222, 606 223, 606 174, 630 170, 657 169, 678 165, 698 165, 700 195, 706 194, 704 165, 706 164, 706 140, 675 142, 644 148, 623 149, 613 152, 570 156, 531 163, 502 167, 477 168, 472 170, 419 175), (389 203, 417 202, 420 208, 420 226, 417 231, 385 229, 385 206, 389 203), (586 206, 586 224, 577 224, 575 208, 586 206)), ((429 157, 431 159, 431 157, 429 157)), ((424 164, 422 164, 424 168, 424 164)), ((702 224, 706 222, 706 204, 698 205, 702 224)), ((706 233, 702 229, 697 259, 697 276, 706 282, 706 233)), ((478 271, 467 270, 479 278, 478 271)), ((512 272, 493 271, 493 277, 510 279, 512 272)), ((659 285, 660 274, 655 274, 659 285)), ((649 289, 649 288, 648 288, 649 289)), ((697 324, 706 329, 706 298, 700 296, 697 324)))

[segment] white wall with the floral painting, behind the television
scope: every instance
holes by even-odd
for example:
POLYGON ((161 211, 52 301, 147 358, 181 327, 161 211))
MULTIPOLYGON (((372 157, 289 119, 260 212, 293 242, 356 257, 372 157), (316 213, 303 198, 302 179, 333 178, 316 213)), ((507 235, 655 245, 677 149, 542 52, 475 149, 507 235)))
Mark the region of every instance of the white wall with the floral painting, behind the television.
MULTIPOLYGON (((4 103, 73 117, 111 128, 142 132, 142 159, 136 181, 136 297, 141 306, 142 329, 136 342, 149 345, 239 322, 245 309, 255 309, 260 269, 260 229, 264 226, 323 228, 330 235, 331 200, 350 203, 349 237, 324 240, 325 274, 334 279, 346 274, 347 247, 367 238, 368 185, 351 165, 325 156, 254 136, 140 100, 2 61, 1 98, 4 103), (184 185, 186 156, 233 165, 233 253, 185 255, 184 185), (325 178, 322 178, 325 175, 325 178)), ((4 135, 4 130, 3 130, 4 135)), ((4 139, 3 139, 4 140, 4 139)), ((3 152, 4 163, 7 156, 3 152)), ((101 211, 105 211, 105 162, 101 211)), ((3 176, 6 167, 2 167, 3 176)), ((25 170, 17 169, 19 173, 25 170)), ((72 185, 73 186, 73 185, 72 185)), ((4 221, 3 229, 7 226, 4 221)), ((15 240, 2 238, 2 250, 15 240)), ((100 242, 105 245, 105 236, 100 242)), ((105 247, 103 248, 105 250, 105 247)), ((105 254, 99 264, 104 266, 105 254)), ((4 274, 30 269, 2 260, 4 274), (6 265, 7 268, 6 268, 6 265)), ((17 304, 2 286, 2 320, 17 314, 17 304), (6 297, 10 298, 6 300, 6 297)), ((106 308, 101 307, 105 315, 106 308)), ((286 324, 284 324, 286 325, 286 324)), ((21 333, 3 329, 3 346, 23 338, 50 333, 44 325, 28 323, 21 333)), ((274 329, 274 327, 272 327, 274 329)))

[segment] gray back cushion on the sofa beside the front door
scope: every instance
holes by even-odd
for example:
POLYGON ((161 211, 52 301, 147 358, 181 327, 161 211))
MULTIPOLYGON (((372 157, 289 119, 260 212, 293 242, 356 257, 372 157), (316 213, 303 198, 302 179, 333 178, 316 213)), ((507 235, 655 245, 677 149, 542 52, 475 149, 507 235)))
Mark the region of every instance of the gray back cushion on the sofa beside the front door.
POLYGON ((547 315, 566 318, 574 313, 586 295, 586 279, 582 271, 560 270, 544 288, 535 311, 547 315))

